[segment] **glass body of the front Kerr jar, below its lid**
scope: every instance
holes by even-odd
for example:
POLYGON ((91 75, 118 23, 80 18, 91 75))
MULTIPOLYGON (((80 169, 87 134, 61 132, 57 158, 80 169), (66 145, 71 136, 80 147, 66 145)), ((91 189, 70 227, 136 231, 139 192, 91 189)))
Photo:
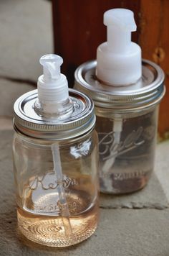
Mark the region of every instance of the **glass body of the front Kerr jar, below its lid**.
POLYGON ((62 180, 54 168, 55 143, 15 132, 17 216, 28 239, 64 247, 87 239, 97 227, 97 134, 57 141, 62 180))

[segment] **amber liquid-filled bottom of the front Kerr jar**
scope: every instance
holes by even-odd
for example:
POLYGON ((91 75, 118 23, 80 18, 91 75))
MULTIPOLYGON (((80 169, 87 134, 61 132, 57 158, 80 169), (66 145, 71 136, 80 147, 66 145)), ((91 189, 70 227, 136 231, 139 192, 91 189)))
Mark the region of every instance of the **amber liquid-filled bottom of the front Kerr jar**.
POLYGON ((98 206, 79 216, 42 216, 17 209, 18 226, 24 236, 49 247, 68 247, 90 237, 97 228, 98 206))

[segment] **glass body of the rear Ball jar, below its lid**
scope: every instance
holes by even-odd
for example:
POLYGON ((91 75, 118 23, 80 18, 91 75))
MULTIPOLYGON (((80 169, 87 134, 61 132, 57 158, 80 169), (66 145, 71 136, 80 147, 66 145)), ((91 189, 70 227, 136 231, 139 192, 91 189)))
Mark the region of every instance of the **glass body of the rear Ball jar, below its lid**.
POLYGON ((96 114, 101 191, 120 194, 143 188, 154 167, 158 106, 127 114, 96 107, 96 114))

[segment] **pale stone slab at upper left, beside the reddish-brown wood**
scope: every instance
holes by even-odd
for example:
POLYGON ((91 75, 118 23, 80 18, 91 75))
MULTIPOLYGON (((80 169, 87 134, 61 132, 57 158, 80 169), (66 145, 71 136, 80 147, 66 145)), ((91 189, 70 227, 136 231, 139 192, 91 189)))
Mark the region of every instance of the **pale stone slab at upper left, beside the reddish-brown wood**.
POLYGON ((0 31, 0 77, 37 81, 39 58, 53 52, 51 1, 1 0, 0 31))

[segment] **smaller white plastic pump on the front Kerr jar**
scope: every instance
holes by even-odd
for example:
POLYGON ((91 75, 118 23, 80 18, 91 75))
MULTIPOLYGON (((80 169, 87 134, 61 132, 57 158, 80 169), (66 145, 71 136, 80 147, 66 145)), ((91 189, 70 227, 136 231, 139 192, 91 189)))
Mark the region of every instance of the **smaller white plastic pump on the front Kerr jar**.
POLYGON ((67 78, 60 73, 63 59, 59 55, 42 56, 39 62, 43 65, 44 74, 37 82, 38 99, 44 106, 44 111, 54 112, 58 104, 69 98, 67 78))

